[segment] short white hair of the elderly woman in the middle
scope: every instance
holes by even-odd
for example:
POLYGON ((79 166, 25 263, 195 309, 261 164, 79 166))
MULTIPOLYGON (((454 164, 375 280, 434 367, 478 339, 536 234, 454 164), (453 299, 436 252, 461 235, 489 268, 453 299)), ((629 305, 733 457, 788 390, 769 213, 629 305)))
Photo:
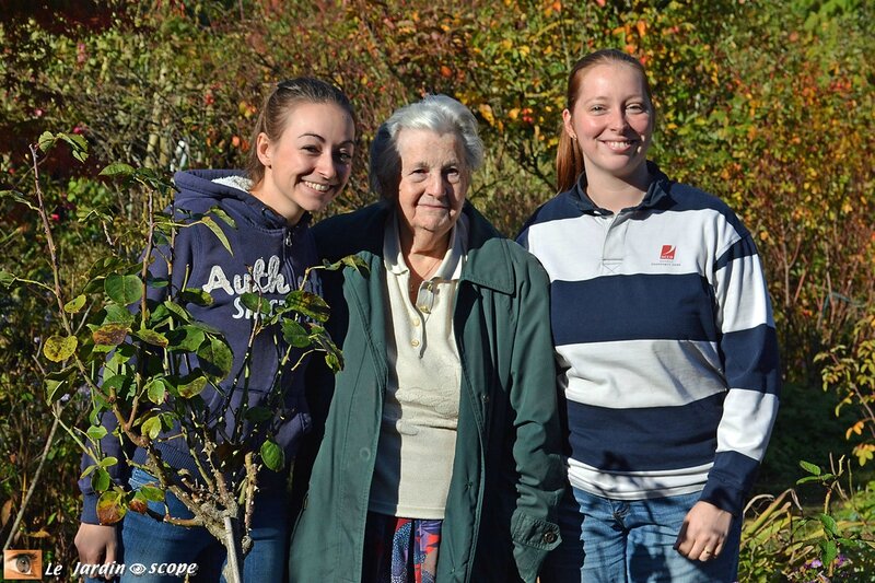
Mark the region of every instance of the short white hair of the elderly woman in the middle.
POLYGON ((477 119, 470 109, 446 95, 427 95, 405 105, 382 125, 371 142, 371 190, 385 199, 397 196, 401 174, 398 135, 402 129, 425 129, 435 133, 454 132, 465 149, 468 177, 483 163, 483 142, 477 133, 477 119))

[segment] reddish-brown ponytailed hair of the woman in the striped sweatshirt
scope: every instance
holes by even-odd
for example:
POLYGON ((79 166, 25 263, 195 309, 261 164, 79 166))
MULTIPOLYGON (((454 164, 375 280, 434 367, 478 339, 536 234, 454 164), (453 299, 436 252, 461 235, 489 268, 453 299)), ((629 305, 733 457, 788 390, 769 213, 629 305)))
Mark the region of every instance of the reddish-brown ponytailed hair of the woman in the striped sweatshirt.
MULTIPOLYGON (((650 101, 651 108, 653 108, 653 95, 650 91, 646 72, 641 62, 626 53, 615 48, 606 48, 586 55, 578 60, 574 67, 571 68, 571 73, 568 75, 568 91, 565 92, 565 107, 569 112, 574 112, 574 104, 578 102, 581 82, 583 81, 583 75, 586 70, 597 65, 610 65, 616 62, 629 65, 641 73, 641 78, 644 80, 644 91, 648 94, 648 101, 650 101)), ((574 186, 578 182, 578 177, 583 174, 583 152, 581 151, 580 144, 571 139, 563 126, 560 130, 559 149, 556 152, 556 180, 558 191, 563 193, 574 186)))

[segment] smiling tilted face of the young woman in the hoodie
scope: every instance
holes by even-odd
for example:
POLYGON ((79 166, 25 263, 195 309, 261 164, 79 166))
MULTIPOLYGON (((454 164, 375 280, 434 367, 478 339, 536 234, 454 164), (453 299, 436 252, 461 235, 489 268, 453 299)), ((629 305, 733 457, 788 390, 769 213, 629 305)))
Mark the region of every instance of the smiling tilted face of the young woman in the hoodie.
POLYGON ((339 106, 295 104, 278 140, 258 136, 265 177, 252 194, 291 224, 323 210, 349 180, 354 139, 352 118, 339 106))

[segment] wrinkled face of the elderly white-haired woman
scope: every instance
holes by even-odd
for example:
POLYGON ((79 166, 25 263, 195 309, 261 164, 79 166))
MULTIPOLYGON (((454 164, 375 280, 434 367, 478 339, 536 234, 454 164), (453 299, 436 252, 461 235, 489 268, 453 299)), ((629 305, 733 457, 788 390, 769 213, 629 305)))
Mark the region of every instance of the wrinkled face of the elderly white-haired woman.
POLYGON ((428 238, 446 235, 468 191, 462 140, 455 132, 402 129, 397 145, 401 159, 397 206, 402 230, 428 238))

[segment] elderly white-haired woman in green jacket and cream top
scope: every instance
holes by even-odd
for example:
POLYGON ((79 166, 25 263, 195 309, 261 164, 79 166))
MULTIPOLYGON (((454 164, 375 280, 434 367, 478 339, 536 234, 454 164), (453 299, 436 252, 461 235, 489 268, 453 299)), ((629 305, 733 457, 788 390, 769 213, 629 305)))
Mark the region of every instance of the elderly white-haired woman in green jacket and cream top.
POLYGON ((383 200, 314 229, 368 269, 325 278, 346 365, 313 404, 290 581, 534 582, 558 545, 547 279, 466 201, 482 158, 468 108, 427 96, 374 138, 383 200))

